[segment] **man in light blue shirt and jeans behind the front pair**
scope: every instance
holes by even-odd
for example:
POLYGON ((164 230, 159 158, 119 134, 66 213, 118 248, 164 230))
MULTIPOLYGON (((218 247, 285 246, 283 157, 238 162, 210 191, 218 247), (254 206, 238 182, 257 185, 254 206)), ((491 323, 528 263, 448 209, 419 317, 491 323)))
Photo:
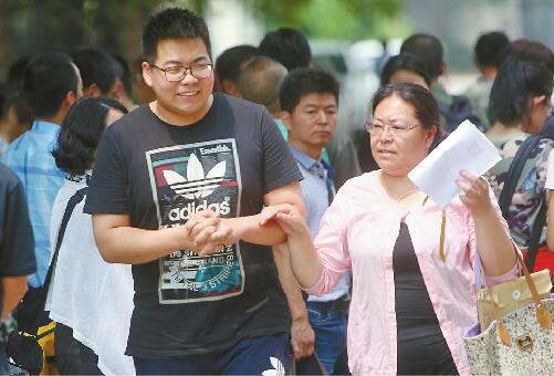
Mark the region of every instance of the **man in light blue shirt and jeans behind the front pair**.
MULTIPOLYGON (((289 147, 304 177, 300 186, 312 238, 317 236, 323 213, 336 192, 334 170, 322 159, 322 152, 335 133, 338 91, 338 82, 332 74, 301 67, 286 76, 280 92, 289 147)), ((310 295, 306 302, 310 324, 315 331, 315 353, 330 375, 346 347, 349 281, 345 274, 330 293, 310 295)))

